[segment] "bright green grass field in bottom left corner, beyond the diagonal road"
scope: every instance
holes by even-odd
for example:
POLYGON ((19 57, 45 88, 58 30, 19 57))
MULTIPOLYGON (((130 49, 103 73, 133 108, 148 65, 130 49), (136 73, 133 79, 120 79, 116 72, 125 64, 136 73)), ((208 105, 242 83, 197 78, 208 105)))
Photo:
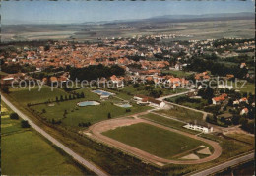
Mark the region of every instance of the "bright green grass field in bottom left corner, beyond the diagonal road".
POLYGON ((1 169, 4 175, 92 174, 75 166, 32 129, 22 129, 20 120, 9 118, 11 110, 1 106, 1 169))

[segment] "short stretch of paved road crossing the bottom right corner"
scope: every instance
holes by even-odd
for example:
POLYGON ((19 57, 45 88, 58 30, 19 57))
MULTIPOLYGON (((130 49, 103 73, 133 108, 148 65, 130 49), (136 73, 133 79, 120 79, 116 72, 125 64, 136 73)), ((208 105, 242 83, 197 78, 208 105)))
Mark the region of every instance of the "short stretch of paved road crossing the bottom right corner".
POLYGON ((205 176, 205 175, 214 174, 214 173, 216 173, 220 170, 223 170, 227 167, 230 167, 230 166, 233 166, 233 165, 251 160, 253 158, 254 158, 254 152, 250 153, 250 154, 247 154, 247 155, 244 155, 244 156, 241 156, 241 157, 238 157, 238 158, 235 158, 235 159, 232 159, 230 161, 224 162, 223 164, 217 165, 217 166, 212 167, 210 169, 206 169, 204 171, 198 172, 196 174, 193 174, 192 176, 205 176))

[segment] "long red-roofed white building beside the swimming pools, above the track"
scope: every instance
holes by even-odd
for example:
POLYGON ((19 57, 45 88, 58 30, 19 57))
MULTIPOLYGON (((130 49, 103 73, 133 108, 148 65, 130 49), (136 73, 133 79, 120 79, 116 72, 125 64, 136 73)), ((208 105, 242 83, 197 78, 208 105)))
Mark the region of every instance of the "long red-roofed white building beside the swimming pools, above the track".
POLYGON ((159 108, 162 108, 165 106, 165 103, 163 101, 160 101, 145 95, 135 95, 133 99, 137 101, 137 104, 140 104, 140 105, 152 105, 154 107, 159 107, 159 108))

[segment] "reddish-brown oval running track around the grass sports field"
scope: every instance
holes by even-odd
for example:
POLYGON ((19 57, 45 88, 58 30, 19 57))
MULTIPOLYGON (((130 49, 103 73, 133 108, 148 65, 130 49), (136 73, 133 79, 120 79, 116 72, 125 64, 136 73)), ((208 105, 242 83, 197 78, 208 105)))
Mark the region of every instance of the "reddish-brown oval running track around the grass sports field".
POLYGON ((162 166, 164 164, 167 164, 167 163, 172 163, 172 164, 199 164, 199 163, 214 160, 222 154, 222 147, 220 147, 217 142, 210 141, 210 140, 207 140, 207 139, 204 139, 204 138, 201 138, 201 137, 189 134, 189 133, 181 132, 181 131, 176 130, 176 129, 165 127, 165 126, 162 126, 160 124, 157 124, 157 123, 154 123, 154 122, 151 122, 151 121, 147 121, 145 119, 118 118, 118 119, 105 120, 105 121, 101 121, 99 123, 96 123, 96 124, 92 125, 87 131, 84 132, 84 134, 89 135, 90 138, 93 138, 97 141, 100 141, 100 142, 105 143, 107 145, 110 145, 112 147, 117 147, 120 150, 123 150, 125 152, 129 152, 132 155, 135 155, 135 156, 141 158, 142 160, 150 161, 150 162, 155 163, 155 164, 160 165, 160 166, 162 166), (111 139, 111 138, 106 137, 106 136, 101 134, 102 132, 115 129, 117 127, 137 124, 137 123, 140 123, 140 122, 147 123, 147 124, 159 127, 161 129, 169 130, 169 131, 181 134, 181 135, 188 136, 192 139, 205 142, 205 143, 211 145, 214 148, 214 153, 212 155, 208 156, 208 157, 198 159, 198 160, 169 160, 169 159, 164 159, 164 158, 158 157, 156 155, 153 155, 149 152, 143 151, 143 150, 138 149, 136 147, 131 147, 129 145, 126 145, 124 143, 121 143, 119 141, 116 141, 114 139, 111 139))

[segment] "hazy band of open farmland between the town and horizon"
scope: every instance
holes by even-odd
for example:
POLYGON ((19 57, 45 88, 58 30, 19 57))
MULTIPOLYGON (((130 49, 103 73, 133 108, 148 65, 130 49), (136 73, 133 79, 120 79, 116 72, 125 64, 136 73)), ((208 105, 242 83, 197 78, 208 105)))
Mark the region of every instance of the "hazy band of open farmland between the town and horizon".
POLYGON ((164 23, 158 21, 138 21, 98 25, 20 25, 2 27, 2 39, 8 40, 32 40, 32 39, 70 39, 96 40, 98 37, 131 37, 133 35, 145 35, 156 33, 173 33, 189 35, 190 37, 178 37, 164 40, 209 39, 223 37, 254 37, 254 19, 201 21, 201 22, 173 22, 164 23), (120 27, 134 27, 131 30, 123 30, 120 27))

